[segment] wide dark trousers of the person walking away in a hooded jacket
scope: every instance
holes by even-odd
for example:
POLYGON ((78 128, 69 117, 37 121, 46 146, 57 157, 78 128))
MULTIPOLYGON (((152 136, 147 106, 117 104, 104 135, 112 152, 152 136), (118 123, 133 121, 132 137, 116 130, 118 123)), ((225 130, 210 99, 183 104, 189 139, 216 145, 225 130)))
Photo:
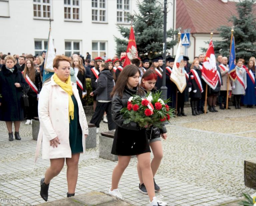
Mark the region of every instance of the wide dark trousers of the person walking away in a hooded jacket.
POLYGON ((92 119, 91 119, 90 123, 95 124, 96 127, 100 127, 100 122, 102 120, 104 112, 106 112, 107 119, 108 119, 108 130, 115 129, 116 124, 112 120, 111 105, 112 105, 111 102, 98 102, 97 101, 95 112, 92 115, 92 119))

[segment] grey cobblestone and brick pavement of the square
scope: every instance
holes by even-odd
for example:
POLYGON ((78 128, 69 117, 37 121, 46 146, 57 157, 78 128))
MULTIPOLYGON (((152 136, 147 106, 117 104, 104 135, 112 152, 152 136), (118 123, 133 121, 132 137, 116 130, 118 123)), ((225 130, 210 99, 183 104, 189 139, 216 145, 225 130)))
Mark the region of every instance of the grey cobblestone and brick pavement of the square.
MULTIPOLYGON (((161 187, 159 194, 169 205, 214 205, 236 199, 243 192, 255 191, 244 186, 243 162, 255 155, 256 108, 221 110, 218 113, 174 118, 167 125, 168 138, 162 141, 164 157, 155 176, 161 187)), ((88 121, 90 117, 87 117, 88 121)), ((40 179, 49 166, 38 159, 32 172, 36 141, 32 127, 21 123, 21 141, 8 141, 4 122, 0 122, 0 205, 3 199, 20 199, 11 205, 37 205, 44 200, 39 195, 40 179)), ((100 131, 107 131, 101 123, 100 131)), ((91 191, 107 192, 116 162, 98 157, 97 148, 88 149, 79 161, 76 194, 91 191)), ((152 154, 151 154, 152 155, 152 154)), ((148 197, 138 189, 137 160, 133 158, 120 181, 120 191, 126 201, 147 205, 148 197)), ((49 188, 49 201, 65 197, 66 166, 49 188)))

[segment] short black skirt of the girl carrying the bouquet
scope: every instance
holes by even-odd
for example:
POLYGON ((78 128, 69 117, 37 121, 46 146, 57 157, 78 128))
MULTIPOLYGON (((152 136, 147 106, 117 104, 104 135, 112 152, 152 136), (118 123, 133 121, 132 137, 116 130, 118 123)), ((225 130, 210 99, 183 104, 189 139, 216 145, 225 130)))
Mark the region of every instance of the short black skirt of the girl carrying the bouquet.
POLYGON ((145 129, 127 130, 116 127, 111 154, 131 156, 146 152, 150 152, 150 147, 145 129))

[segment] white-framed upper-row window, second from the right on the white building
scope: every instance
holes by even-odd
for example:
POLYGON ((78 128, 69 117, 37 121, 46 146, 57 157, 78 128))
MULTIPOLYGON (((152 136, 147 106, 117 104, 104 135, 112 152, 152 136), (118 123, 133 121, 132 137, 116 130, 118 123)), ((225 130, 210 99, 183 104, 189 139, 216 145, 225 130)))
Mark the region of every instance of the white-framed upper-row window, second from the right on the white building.
POLYGON ((106 0, 92 1, 92 21, 107 22, 106 0))

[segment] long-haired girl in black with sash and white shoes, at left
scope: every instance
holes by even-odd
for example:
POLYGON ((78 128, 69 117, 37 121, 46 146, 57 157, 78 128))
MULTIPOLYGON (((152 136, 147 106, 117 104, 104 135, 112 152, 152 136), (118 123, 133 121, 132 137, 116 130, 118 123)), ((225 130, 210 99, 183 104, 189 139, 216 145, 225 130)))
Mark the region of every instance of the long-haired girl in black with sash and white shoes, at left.
POLYGON ((26 62, 25 69, 23 71, 23 77, 26 82, 29 84, 28 90, 28 101, 29 106, 25 107, 26 111, 26 125, 32 124, 32 119, 38 117, 37 106, 38 106, 38 97, 42 89, 42 81, 40 73, 38 73, 35 68, 33 61, 28 59, 26 62))

